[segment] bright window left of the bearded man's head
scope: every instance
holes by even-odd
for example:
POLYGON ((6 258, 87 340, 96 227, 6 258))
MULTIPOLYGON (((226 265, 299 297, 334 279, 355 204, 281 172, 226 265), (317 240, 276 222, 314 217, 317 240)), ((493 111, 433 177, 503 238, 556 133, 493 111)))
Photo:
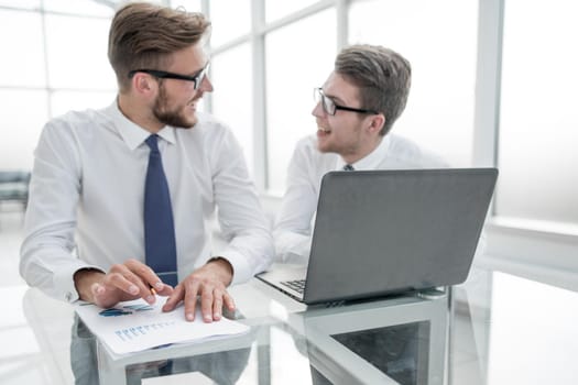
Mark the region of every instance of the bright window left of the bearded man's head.
POLYGON ((113 10, 92 0, 0 0, 0 168, 30 169, 46 121, 113 100, 107 61, 113 10), (11 36, 17 36, 12 38, 11 36))

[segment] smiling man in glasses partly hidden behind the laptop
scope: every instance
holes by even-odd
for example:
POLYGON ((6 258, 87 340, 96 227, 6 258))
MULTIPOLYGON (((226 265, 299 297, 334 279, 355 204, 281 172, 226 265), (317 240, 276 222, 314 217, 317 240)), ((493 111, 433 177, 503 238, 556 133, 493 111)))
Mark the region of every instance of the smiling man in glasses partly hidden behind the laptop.
POLYGON ((301 140, 274 227, 280 262, 307 263, 312 219, 323 176, 330 170, 447 167, 438 156, 391 134, 411 85, 410 63, 392 50, 352 45, 316 88, 317 135, 301 140))

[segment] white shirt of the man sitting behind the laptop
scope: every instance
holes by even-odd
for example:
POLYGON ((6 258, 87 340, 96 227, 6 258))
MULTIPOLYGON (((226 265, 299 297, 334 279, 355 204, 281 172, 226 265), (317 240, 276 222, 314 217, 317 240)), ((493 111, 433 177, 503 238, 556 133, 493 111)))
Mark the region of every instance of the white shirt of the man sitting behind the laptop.
MULTIPOLYGON (((321 178, 328 172, 342 169, 345 164, 338 154, 319 152, 317 139, 313 135, 297 143, 288 166, 287 189, 273 232, 279 262, 307 263, 312 222, 317 209, 321 178)), ((443 168, 448 165, 414 142, 388 134, 373 152, 352 166, 357 170, 363 170, 443 168)))

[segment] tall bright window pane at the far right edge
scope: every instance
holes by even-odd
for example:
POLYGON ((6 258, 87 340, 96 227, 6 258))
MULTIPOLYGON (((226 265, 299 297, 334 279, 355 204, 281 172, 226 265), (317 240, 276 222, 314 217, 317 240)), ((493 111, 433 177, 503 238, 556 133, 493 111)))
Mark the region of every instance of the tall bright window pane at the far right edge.
POLYGON ((504 9, 497 212, 578 224, 578 6, 504 9))

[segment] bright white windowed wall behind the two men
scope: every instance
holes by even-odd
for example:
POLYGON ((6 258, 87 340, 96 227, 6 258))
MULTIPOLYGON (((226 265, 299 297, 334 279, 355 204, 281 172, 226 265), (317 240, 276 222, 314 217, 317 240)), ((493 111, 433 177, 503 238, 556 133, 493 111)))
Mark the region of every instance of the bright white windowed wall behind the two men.
MULTIPOLYGON (((47 119, 112 102, 111 3, 0 0, 0 169, 31 168, 47 119)), ((312 89, 340 47, 381 44, 413 66, 393 131, 456 167, 498 166, 492 219, 578 244, 576 1, 163 3, 211 19, 204 108, 233 129, 263 197, 282 196, 295 142, 315 132, 312 89)))

